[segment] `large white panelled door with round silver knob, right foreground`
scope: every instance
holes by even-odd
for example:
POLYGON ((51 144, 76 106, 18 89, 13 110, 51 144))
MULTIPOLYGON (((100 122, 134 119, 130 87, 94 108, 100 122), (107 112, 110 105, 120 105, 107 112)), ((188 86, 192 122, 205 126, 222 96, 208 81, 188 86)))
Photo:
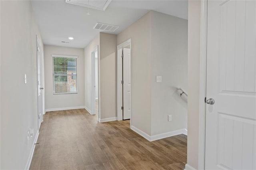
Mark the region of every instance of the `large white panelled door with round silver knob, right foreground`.
POLYGON ((256 1, 208 0, 206 169, 256 169, 256 1))

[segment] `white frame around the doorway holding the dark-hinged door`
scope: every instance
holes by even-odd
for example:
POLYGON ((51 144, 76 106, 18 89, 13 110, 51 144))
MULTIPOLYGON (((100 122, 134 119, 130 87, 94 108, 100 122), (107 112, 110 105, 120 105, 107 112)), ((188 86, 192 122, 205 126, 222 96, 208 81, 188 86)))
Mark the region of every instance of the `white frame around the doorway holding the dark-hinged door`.
MULTIPOLYGON (((120 43, 119 45, 117 45, 117 50, 116 50, 116 87, 117 87, 117 120, 118 121, 122 121, 123 120, 123 112, 122 112, 122 83, 121 83, 121 80, 122 80, 122 60, 121 60, 121 56, 120 56, 120 49, 122 49, 124 46, 126 45, 130 45, 130 50, 131 50, 131 53, 130 53, 130 57, 131 57, 131 60, 132 60, 132 39, 129 39, 123 43, 120 43)), ((132 63, 132 61, 131 61, 132 63)), ((132 64, 131 66, 132 67, 132 64)), ((132 68, 130 68, 130 70, 132 71, 132 68)), ((132 77, 132 73, 130 74, 131 77, 132 77)), ((132 80, 132 79, 131 79, 132 80)), ((132 96, 132 90, 131 90, 131 96, 132 96)), ((131 118, 130 118, 130 125, 132 125, 132 111, 131 111, 131 118)))

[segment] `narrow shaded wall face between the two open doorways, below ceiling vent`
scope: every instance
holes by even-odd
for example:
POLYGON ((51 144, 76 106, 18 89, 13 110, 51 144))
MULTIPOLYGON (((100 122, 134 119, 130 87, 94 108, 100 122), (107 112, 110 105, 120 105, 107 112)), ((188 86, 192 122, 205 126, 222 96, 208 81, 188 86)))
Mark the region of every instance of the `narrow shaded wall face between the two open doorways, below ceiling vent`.
POLYGON ((100 32, 100 119, 117 116, 116 35, 100 32))

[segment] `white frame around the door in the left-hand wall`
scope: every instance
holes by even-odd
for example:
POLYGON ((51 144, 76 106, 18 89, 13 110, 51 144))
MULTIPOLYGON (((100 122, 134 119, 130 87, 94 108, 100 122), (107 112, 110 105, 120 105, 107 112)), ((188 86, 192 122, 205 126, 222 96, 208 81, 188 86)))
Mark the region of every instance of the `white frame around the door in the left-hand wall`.
MULTIPOLYGON (((37 73, 37 78, 36 78, 36 82, 38 81, 38 50, 39 50, 39 52, 40 52, 40 72, 41 72, 41 87, 43 86, 43 78, 42 78, 42 76, 43 76, 43 74, 42 74, 42 46, 41 46, 41 44, 40 44, 40 41, 39 41, 39 38, 38 38, 38 35, 36 35, 36 73, 37 73)), ((38 102, 38 82, 36 83, 36 87, 37 87, 37 108, 39 109, 39 102, 38 102)), ((40 117, 41 117, 41 119, 42 119, 42 122, 44 121, 43 120, 43 115, 44 115, 44 113, 43 113, 43 111, 44 111, 44 106, 43 106, 43 104, 44 104, 44 102, 43 102, 43 91, 42 90, 40 90, 41 91, 41 95, 40 95, 40 97, 42 98, 42 113, 41 113, 41 115, 40 115, 40 117)), ((38 130, 40 129, 40 126, 41 126, 41 119, 39 119, 39 111, 38 111, 38 109, 37 109, 37 122, 38 122, 38 130)))

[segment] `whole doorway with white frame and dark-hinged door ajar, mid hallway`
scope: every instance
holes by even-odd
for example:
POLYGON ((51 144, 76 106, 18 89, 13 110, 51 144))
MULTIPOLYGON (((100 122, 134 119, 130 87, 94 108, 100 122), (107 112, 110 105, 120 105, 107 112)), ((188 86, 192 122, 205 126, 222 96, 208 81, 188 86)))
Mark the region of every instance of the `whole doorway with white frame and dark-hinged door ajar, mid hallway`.
POLYGON ((117 46, 117 119, 132 119, 132 41, 117 46))

